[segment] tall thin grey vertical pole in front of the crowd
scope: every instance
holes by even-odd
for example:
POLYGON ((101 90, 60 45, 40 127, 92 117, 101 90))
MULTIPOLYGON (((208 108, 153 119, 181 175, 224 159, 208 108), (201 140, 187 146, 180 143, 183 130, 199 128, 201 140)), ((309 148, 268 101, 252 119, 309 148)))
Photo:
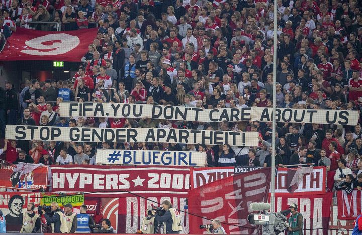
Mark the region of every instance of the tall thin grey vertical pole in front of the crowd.
POLYGON ((270 205, 272 206, 271 212, 275 210, 275 134, 276 134, 276 105, 277 105, 277 20, 278 20, 278 0, 274 0, 274 20, 273 20, 273 110, 272 110, 272 183, 270 189, 272 190, 272 196, 270 197, 270 205))

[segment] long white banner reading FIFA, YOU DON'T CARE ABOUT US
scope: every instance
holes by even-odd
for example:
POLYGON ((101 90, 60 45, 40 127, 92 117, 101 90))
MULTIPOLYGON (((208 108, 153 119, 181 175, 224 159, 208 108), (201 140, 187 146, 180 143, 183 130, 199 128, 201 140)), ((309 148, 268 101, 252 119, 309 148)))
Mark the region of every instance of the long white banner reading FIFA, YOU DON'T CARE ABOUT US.
MULTIPOLYGON (((60 103, 60 116, 108 116, 152 118, 198 122, 272 121, 272 108, 246 107, 202 109, 179 106, 123 103, 60 103)), ((347 110, 310 110, 277 108, 277 122, 357 125, 358 112, 347 110)))

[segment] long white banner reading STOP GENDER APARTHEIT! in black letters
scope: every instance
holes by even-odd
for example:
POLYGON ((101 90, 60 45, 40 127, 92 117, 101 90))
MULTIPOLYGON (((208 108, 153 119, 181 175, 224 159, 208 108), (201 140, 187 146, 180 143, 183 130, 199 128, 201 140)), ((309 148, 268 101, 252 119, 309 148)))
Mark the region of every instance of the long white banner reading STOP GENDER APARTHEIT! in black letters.
POLYGON ((9 140, 73 142, 161 142, 232 146, 257 146, 258 132, 161 128, 86 128, 7 125, 9 140))

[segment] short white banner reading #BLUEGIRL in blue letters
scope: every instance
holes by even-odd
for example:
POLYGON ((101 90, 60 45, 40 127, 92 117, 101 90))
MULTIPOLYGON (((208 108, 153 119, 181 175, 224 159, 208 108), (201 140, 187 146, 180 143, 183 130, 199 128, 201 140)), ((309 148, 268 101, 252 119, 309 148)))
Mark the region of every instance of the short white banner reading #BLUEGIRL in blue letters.
POLYGON ((97 150, 96 163, 116 165, 205 166, 206 153, 153 150, 97 150))

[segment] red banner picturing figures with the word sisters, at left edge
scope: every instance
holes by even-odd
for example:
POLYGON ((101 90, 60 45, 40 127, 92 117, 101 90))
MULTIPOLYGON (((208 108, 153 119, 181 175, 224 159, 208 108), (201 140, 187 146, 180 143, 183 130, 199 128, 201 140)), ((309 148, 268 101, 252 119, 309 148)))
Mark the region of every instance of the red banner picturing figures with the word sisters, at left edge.
POLYGON ((21 171, 14 172, 15 167, 16 165, 13 164, 2 164, 0 168, 0 188, 39 190, 47 187, 47 166, 37 167, 24 175, 21 175, 21 171))

